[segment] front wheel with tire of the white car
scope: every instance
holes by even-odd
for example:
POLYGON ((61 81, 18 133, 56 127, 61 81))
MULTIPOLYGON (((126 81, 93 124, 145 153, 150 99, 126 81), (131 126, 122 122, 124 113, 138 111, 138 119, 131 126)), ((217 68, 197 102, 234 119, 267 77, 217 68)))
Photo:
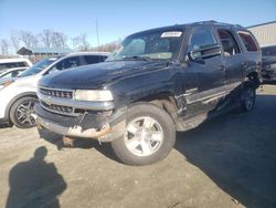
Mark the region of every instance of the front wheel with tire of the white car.
POLYGON ((34 104, 38 98, 25 96, 13 103, 10 110, 11 122, 20 128, 31 128, 35 126, 34 104))

